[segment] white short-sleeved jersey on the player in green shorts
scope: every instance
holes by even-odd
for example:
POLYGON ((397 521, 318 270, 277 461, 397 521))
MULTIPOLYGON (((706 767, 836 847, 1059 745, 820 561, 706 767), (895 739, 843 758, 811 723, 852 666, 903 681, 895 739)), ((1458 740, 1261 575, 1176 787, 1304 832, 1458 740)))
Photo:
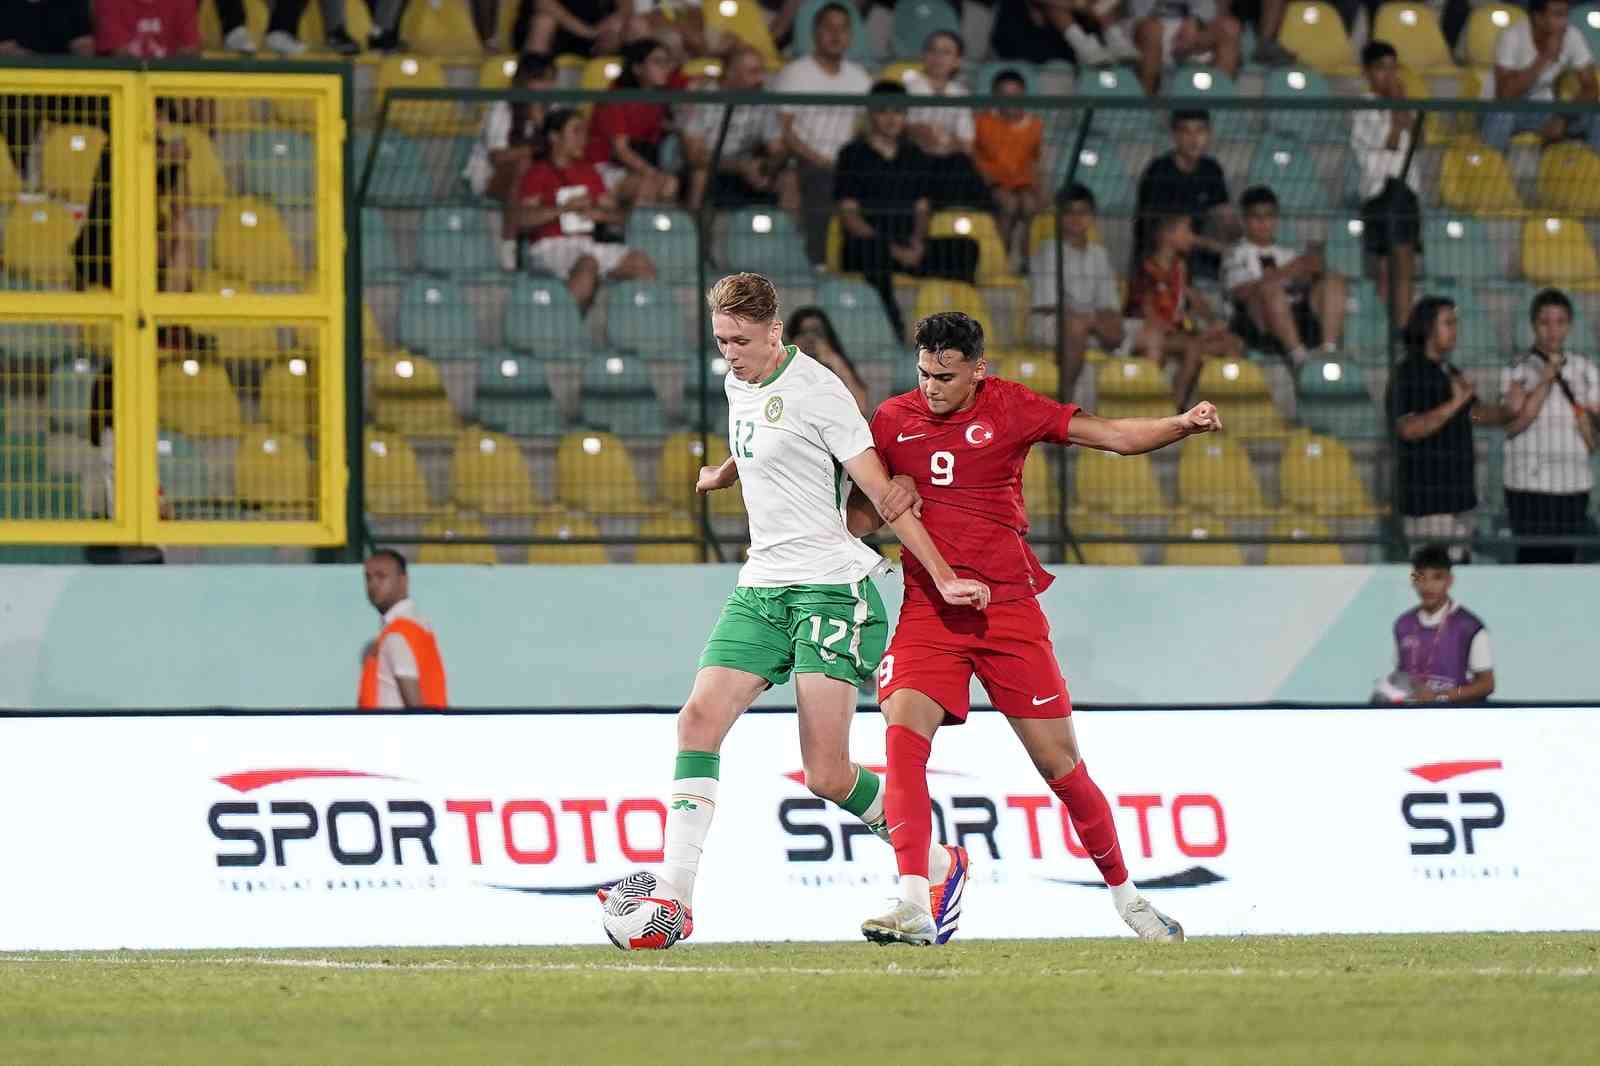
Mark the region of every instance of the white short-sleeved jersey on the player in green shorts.
POLYGON ((872 447, 872 431, 838 376, 794 346, 766 381, 731 373, 728 447, 750 515, 750 557, 739 584, 850 584, 883 557, 845 528, 850 482, 842 464, 872 447))

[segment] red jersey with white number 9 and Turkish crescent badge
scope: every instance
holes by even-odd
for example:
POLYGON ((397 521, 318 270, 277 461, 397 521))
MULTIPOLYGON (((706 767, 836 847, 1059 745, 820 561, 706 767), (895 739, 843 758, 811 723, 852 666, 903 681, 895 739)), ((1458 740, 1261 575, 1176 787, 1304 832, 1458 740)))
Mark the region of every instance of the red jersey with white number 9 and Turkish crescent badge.
MULTIPOLYGON (((965 411, 934 415, 920 391, 883 402, 872 442, 890 474, 922 493, 922 523, 957 575, 989 586, 1003 603, 1038 595, 1054 578, 1027 536, 1022 461, 1035 442, 1067 442, 1075 403, 1058 403, 1024 384, 986 378, 965 411)), ((933 578, 906 552, 906 600, 942 605, 933 578)))

